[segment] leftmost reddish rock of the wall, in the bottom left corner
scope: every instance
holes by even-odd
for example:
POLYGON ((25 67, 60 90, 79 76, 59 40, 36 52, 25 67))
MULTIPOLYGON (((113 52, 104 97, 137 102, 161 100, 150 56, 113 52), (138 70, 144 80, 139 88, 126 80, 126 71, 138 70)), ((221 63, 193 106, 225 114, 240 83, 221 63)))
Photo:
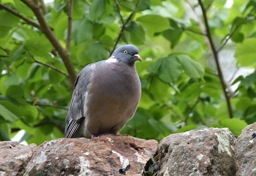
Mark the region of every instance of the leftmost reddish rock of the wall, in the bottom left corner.
POLYGON ((18 142, 0 142, 0 176, 21 176, 37 145, 25 146, 18 142))

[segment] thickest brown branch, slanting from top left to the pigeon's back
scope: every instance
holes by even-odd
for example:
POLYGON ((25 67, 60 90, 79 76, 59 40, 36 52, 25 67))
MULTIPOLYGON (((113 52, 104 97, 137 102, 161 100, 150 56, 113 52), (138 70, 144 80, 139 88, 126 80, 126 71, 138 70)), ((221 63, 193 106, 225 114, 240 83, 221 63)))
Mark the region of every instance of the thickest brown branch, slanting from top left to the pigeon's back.
POLYGON ((46 23, 43 14, 40 11, 40 8, 33 3, 33 1, 30 0, 21 0, 23 3, 25 3, 35 14, 35 17, 37 18, 41 31, 46 35, 46 37, 49 39, 49 41, 52 43, 53 47, 58 51, 60 54, 61 59, 64 62, 65 67, 67 68, 67 71, 69 73, 69 82, 71 86, 74 85, 76 80, 76 72, 74 65, 72 64, 68 52, 61 43, 58 41, 58 39, 55 37, 53 32, 50 30, 50 27, 46 23))

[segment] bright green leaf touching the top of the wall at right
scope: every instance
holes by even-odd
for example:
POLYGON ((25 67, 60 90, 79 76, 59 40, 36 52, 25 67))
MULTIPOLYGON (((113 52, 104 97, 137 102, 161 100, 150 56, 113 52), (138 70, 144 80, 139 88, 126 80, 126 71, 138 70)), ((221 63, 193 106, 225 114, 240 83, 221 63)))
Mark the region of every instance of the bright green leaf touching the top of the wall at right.
POLYGON ((232 131, 235 135, 240 135, 242 129, 244 129, 248 124, 241 119, 233 118, 233 119, 223 119, 220 124, 223 127, 228 127, 230 131, 232 131))

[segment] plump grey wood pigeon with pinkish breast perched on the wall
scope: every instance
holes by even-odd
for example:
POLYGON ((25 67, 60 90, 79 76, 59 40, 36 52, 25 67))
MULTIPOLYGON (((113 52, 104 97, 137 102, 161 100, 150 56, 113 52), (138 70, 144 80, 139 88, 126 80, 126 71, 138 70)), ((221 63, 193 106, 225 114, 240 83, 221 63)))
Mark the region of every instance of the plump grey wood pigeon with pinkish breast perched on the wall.
POLYGON ((137 109, 141 84, 134 45, 118 47, 108 60, 85 66, 76 78, 66 117, 65 138, 119 134, 137 109))

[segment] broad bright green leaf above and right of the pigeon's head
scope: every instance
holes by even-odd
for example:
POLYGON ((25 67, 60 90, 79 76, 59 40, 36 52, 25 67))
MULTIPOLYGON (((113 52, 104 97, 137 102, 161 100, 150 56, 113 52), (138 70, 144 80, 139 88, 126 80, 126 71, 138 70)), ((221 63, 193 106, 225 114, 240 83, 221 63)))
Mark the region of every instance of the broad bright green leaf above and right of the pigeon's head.
POLYGON ((161 32, 170 28, 169 20, 160 15, 144 15, 137 18, 147 30, 161 32))

